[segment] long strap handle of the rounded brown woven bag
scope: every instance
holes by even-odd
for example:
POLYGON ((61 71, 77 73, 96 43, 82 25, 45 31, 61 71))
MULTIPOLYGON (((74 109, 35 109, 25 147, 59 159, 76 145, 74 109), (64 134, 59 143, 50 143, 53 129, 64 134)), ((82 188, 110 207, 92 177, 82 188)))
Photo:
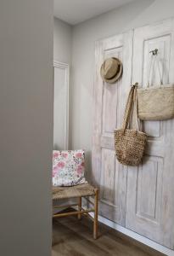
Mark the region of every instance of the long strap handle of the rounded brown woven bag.
MULTIPOLYGON (((135 111, 137 112, 137 87, 138 83, 133 84, 131 87, 131 90, 129 91, 129 95, 127 98, 126 102, 126 108, 125 108, 125 113, 124 113, 124 118, 123 118, 123 124, 122 124, 122 130, 125 132, 127 126, 130 123, 130 118, 132 115, 132 107, 135 104, 135 111)), ((135 116, 133 114, 133 116, 135 116)), ((138 114, 136 113, 137 119, 138 119, 138 114)))

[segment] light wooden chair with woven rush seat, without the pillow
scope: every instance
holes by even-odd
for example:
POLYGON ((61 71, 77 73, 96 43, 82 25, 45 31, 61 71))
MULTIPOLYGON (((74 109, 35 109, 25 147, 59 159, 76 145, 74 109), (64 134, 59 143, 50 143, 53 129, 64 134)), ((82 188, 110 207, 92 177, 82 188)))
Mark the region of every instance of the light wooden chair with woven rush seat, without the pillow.
POLYGON ((93 238, 98 238, 98 189, 91 186, 89 183, 83 183, 80 185, 72 187, 53 187, 53 203, 56 203, 56 206, 53 205, 53 208, 64 208, 64 207, 78 207, 78 210, 73 212, 57 212, 53 213, 53 218, 65 217, 70 215, 77 215, 78 219, 81 219, 81 215, 87 215, 87 217, 92 218, 89 212, 94 212, 93 219, 93 238), (94 196, 94 203, 89 200, 89 196, 94 196), (91 205, 92 208, 84 209, 81 207, 81 198, 85 198, 91 205), (78 203, 59 206, 59 200, 78 198, 78 203))

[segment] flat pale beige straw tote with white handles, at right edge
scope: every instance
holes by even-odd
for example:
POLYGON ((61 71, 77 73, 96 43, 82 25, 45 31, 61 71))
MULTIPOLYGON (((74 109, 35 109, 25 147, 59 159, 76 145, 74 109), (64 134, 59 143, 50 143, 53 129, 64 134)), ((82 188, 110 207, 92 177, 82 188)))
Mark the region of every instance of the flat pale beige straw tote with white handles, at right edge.
MULTIPOLYGON (((154 61, 157 61, 158 73, 160 74, 160 61, 157 55, 151 57, 149 65, 153 75, 154 61)), ((159 86, 149 86, 146 89, 138 89, 138 118, 142 120, 165 120, 174 117, 174 84, 162 84, 160 76, 159 86)))

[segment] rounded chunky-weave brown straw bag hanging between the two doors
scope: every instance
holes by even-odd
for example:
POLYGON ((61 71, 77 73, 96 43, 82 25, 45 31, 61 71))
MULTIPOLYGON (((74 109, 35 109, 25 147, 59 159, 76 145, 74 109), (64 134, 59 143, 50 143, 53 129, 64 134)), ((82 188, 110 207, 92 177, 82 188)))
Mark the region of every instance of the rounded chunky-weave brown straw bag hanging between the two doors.
MULTIPOLYGON (((126 102, 123 124, 120 130, 115 130, 115 154, 117 160, 126 166, 138 166, 143 158, 147 136, 136 130, 138 125, 137 113, 137 84, 132 85, 126 102), (133 118, 133 130, 129 129, 130 119, 133 118)), ((139 127, 139 125, 138 125, 139 127)))

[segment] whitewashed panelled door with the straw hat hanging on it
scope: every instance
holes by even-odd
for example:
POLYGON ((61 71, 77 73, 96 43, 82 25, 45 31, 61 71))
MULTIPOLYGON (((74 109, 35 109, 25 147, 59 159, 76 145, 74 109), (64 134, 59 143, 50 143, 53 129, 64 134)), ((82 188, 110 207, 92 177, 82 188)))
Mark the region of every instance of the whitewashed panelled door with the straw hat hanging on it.
POLYGON ((125 226, 127 168, 115 158, 114 130, 121 127, 132 75, 132 31, 96 43, 96 79, 93 114, 93 180, 100 187, 99 214, 125 226), (115 84, 100 76, 104 59, 117 57, 123 75, 115 84))

